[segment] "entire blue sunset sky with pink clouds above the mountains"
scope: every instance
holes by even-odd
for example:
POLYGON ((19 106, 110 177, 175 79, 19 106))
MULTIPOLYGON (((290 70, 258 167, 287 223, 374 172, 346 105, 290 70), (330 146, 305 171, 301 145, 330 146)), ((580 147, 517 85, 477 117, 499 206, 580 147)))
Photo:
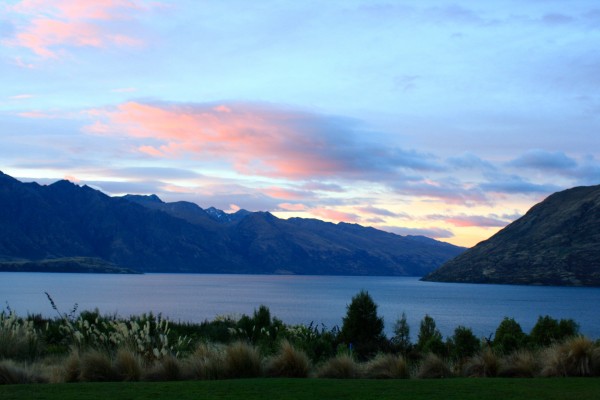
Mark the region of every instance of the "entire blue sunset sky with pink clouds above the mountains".
POLYGON ((597 1, 2 0, 0 170, 473 246, 600 184, 597 1))

